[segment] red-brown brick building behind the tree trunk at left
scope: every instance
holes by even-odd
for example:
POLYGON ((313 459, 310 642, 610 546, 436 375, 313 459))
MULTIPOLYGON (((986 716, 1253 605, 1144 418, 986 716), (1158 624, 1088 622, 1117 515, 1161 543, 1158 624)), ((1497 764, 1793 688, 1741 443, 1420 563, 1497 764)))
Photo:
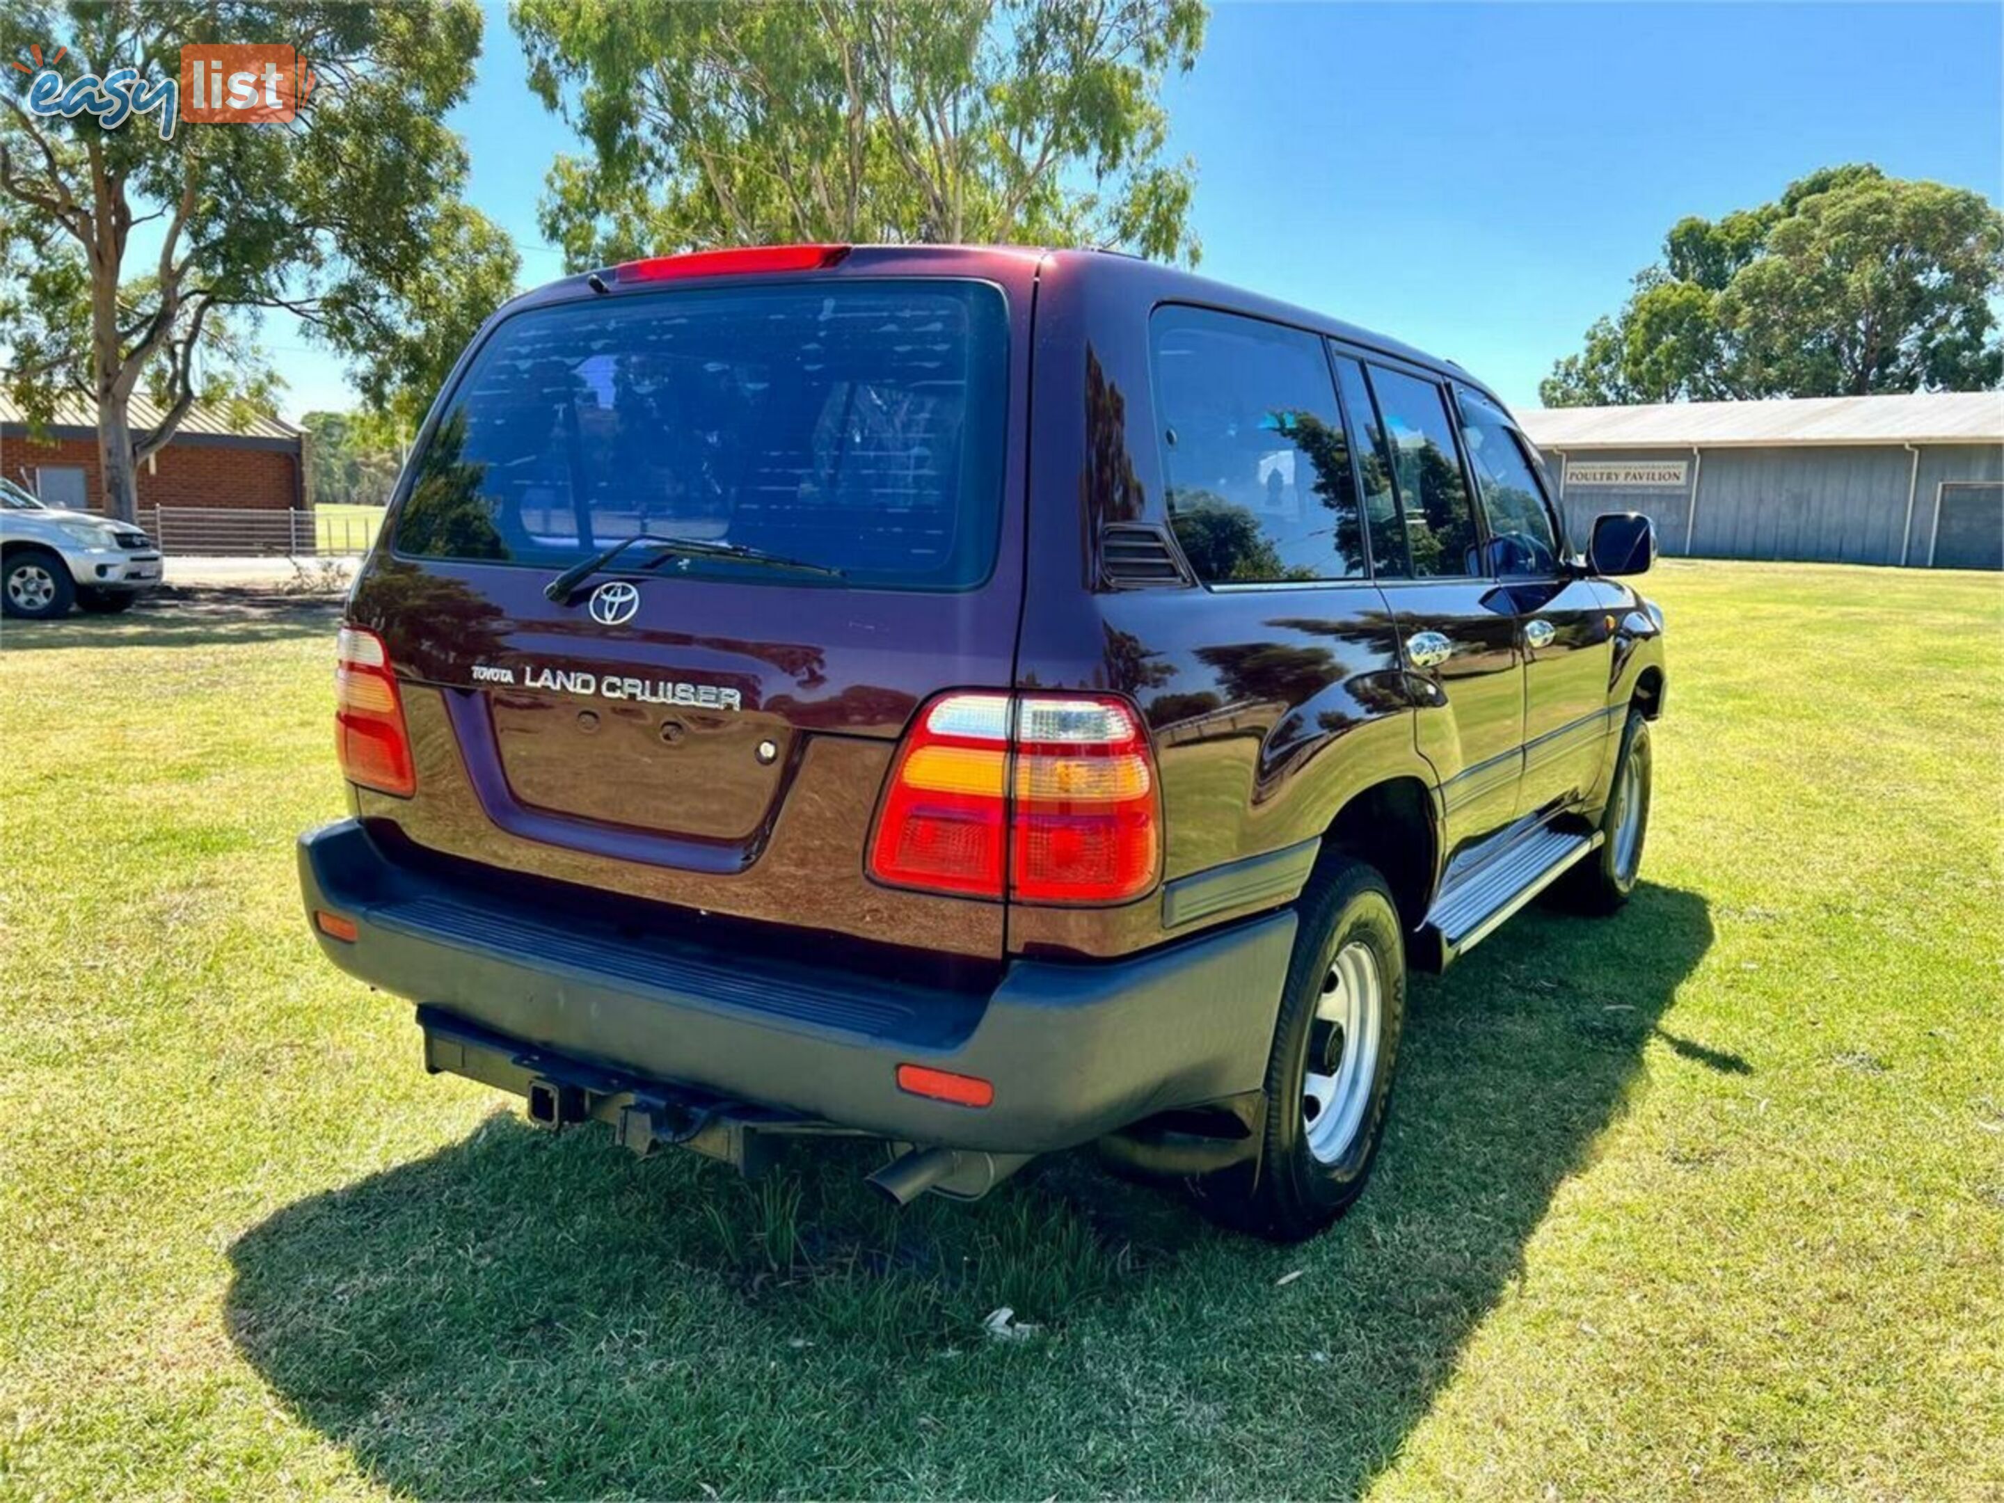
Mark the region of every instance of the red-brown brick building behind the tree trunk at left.
MULTIPOLYGON (((148 433, 160 409, 132 399, 132 431, 148 433)), ((46 505, 102 511, 96 411, 66 399, 56 421, 30 435, 0 395, 0 475, 26 485, 46 505)), ((307 507, 305 435, 275 417, 234 423, 196 405, 168 445, 138 467, 142 513, 158 507, 291 511, 307 507)))

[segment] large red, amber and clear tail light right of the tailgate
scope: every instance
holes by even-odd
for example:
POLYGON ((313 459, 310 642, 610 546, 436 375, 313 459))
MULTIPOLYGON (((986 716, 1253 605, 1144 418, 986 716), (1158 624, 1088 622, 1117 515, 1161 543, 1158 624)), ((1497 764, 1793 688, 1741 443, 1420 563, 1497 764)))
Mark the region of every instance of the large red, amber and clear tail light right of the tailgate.
POLYGON ((870 842, 880 882, 1116 904, 1154 886, 1162 806, 1124 699, 948 693, 920 711, 870 842))

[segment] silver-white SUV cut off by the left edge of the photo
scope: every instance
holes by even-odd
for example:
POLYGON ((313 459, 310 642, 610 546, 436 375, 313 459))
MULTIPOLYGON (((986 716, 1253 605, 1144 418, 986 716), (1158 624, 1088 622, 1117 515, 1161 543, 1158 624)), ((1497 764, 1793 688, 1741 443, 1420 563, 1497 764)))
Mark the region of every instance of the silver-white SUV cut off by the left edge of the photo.
POLYGON ((54 621, 70 605, 122 611, 160 583, 160 549, 138 527, 44 507, 0 477, 0 611, 54 621))

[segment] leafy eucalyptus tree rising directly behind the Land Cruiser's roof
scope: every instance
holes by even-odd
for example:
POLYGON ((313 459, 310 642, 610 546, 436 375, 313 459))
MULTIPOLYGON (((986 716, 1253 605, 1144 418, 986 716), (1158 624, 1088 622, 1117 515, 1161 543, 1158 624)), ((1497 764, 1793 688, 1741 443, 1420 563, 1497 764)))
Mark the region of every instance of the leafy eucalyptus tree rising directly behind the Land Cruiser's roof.
POLYGON ((1122 246, 1194 261, 1162 84, 1200 0, 517 0, 573 269, 749 240, 1122 246))

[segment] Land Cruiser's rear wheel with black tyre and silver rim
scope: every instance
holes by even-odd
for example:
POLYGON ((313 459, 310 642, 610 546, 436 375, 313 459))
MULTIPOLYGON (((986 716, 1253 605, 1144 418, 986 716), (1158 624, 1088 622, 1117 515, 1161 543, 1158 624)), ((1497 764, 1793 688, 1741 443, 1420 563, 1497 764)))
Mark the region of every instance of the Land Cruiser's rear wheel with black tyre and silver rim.
POLYGON ((1297 910, 1261 1154, 1196 1182, 1216 1220, 1279 1242, 1315 1236, 1363 1192, 1405 1022, 1405 936, 1385 878, 1325 866, 1297 910))

